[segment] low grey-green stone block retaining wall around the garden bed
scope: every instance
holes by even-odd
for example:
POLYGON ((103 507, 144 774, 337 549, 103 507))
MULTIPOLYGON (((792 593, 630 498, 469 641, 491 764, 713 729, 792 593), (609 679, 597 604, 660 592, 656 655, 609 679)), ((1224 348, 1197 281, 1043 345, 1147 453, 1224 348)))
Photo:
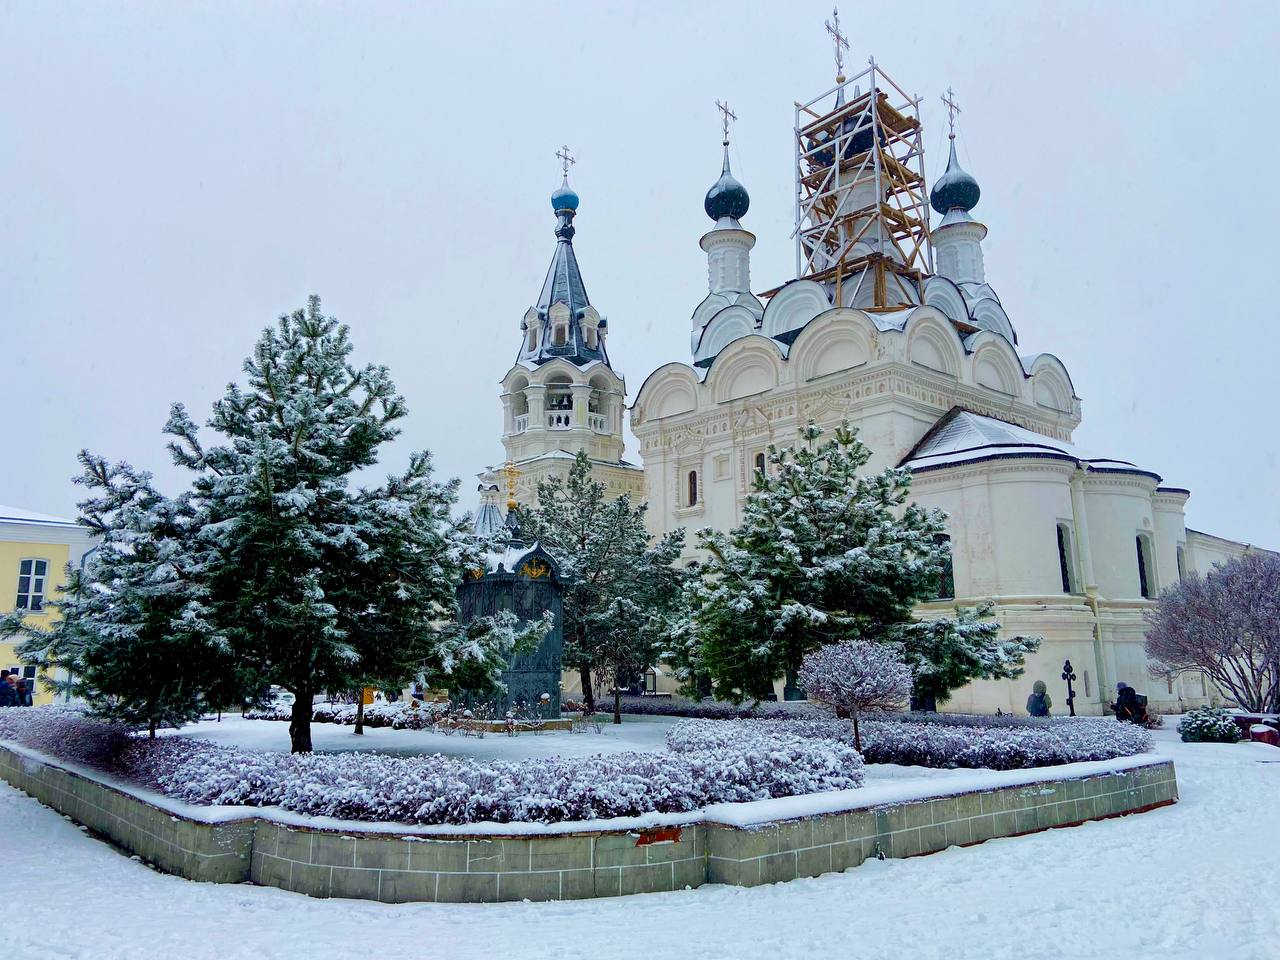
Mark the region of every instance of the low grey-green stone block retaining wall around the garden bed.
POLYGON ((1096 776, 883 804, 737 827, 438 837, 293 827, 268 817, 209 823, 0 746, 0 778, 163 870, 252 881, 317 897, 387 902, 577 900, 817 877, 872 856, 916 856, 1178 800, 1161 760, 1096 776))

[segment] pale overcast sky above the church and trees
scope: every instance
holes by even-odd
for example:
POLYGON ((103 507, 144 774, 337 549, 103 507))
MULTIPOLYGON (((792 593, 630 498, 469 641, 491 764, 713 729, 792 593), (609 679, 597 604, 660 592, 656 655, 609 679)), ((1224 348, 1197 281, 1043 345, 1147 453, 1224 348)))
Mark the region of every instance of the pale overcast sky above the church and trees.
MULTIPOLYGON (((1076 442, 1188 486, 1188 525, 1280 547, 1275 3, 847 3, 851 60, 956 91, 987 279, 1084 401, 1076 442)), ((689 358, 698 238, 739 115, 753 283, 794 275, 792 102, 823 1, 0 3, 0 503, 74 515, 81 447, 152 468, 308 293, 404 393, 399 467, 502 457, 498 380, 575 246, 634 397, 689 358)), ((634 449, 634 445, 632 445, 634 449)))

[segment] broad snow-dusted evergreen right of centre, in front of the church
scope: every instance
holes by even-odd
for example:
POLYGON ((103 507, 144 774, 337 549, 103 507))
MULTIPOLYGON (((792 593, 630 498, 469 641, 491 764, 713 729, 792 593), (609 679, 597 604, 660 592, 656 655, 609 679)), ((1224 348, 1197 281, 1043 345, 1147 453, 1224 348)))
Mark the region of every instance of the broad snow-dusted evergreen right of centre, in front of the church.
POLYGON ((942 512, 908 502, 909 470, 860 472, 870 451, 847 422, 828 440, 809 424, 768 456, 742 524, 698 535, 708 559, 687 590, 685 660, 717 696, 764 699, 805 654, 852 639, 901 643, 922 705, 1021 671, 1039 640, 1004 639, 979 612, 913 618, 937 595, 950 548, 942 512))

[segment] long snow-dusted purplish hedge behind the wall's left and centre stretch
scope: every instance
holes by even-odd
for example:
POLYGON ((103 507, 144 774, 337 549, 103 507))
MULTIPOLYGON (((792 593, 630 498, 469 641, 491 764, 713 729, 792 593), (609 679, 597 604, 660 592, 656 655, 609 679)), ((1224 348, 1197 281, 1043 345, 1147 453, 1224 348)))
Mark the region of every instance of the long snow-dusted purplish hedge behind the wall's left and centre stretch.
POLYGON ((852 748, 774 733, 772 727, 704 736, 667 754, 521 762, 289 755, 187 737, 151 741, 58 708, 0 709, 0 739, 101 767, 189 803, 425 824, 673 813, 844 790, 863 780, 861 759, 852 748))

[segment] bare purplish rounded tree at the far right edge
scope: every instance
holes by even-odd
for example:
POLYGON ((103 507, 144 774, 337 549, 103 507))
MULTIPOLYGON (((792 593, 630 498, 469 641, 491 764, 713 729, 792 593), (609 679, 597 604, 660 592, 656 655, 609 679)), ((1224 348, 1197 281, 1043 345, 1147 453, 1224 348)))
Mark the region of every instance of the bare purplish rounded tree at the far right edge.
POLYGON ((1280 712, 1280 556, 1251 550, 1165 590, 1147 655, 1164 672, 1203 671, 1245 710, 1280 712))

